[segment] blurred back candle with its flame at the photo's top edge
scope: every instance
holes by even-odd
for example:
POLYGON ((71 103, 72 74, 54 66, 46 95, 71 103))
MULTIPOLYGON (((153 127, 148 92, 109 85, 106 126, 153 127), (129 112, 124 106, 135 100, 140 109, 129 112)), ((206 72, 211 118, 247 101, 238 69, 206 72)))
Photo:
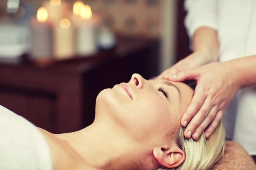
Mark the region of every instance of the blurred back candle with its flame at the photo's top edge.
POLYGON ((61 0, 47 0, 43 3, 47 8, 49 20, 54 23, 59 23, 62 18, 69 17, 70 7, 69 4, 61 0))

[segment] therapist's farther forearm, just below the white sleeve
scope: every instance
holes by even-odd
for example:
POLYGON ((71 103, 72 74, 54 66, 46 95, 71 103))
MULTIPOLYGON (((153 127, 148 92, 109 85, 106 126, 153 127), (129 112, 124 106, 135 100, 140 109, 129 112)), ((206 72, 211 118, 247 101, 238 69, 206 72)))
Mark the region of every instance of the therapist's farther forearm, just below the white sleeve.
POLYGON ((193 37, 194 52, 201 51, 206 53, 204 64, 218 61, 219 42, 218 33, 212 28, 201 27, 195 31, 193 37))

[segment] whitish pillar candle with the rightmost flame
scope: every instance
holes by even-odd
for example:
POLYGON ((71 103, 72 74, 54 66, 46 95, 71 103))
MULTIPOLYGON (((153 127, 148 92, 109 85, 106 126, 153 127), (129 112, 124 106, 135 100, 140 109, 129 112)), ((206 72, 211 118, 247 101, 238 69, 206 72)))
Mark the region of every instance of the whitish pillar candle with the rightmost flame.
POLYGON ((89 55, 97 51, 96 32, 99 27, 99 17, 93 16, 90 6, 84 5, 80 10, 80 17, 76 24, 76 51, 79 55, 89 55))

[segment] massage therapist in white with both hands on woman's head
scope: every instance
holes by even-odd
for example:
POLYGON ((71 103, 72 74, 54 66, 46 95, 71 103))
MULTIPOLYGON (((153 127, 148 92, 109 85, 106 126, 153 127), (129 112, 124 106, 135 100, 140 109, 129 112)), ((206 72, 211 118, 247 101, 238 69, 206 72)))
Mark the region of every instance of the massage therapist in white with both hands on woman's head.
POLYGON ((193 53, 162 74, 198 83, 181 119, 184 135, 209 137, 222 119, 226 138, 256 162, 256 1, 186 0, 184 7, 193 53))

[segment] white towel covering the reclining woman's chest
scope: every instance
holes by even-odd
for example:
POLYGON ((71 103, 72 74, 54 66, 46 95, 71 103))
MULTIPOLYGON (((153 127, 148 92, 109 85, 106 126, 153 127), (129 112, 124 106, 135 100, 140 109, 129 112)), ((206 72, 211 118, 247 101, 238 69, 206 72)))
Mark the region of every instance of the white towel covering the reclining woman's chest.
POLYGON ((40 130, 1 105, 0 170, 52 170, 50 149, 40 130))

